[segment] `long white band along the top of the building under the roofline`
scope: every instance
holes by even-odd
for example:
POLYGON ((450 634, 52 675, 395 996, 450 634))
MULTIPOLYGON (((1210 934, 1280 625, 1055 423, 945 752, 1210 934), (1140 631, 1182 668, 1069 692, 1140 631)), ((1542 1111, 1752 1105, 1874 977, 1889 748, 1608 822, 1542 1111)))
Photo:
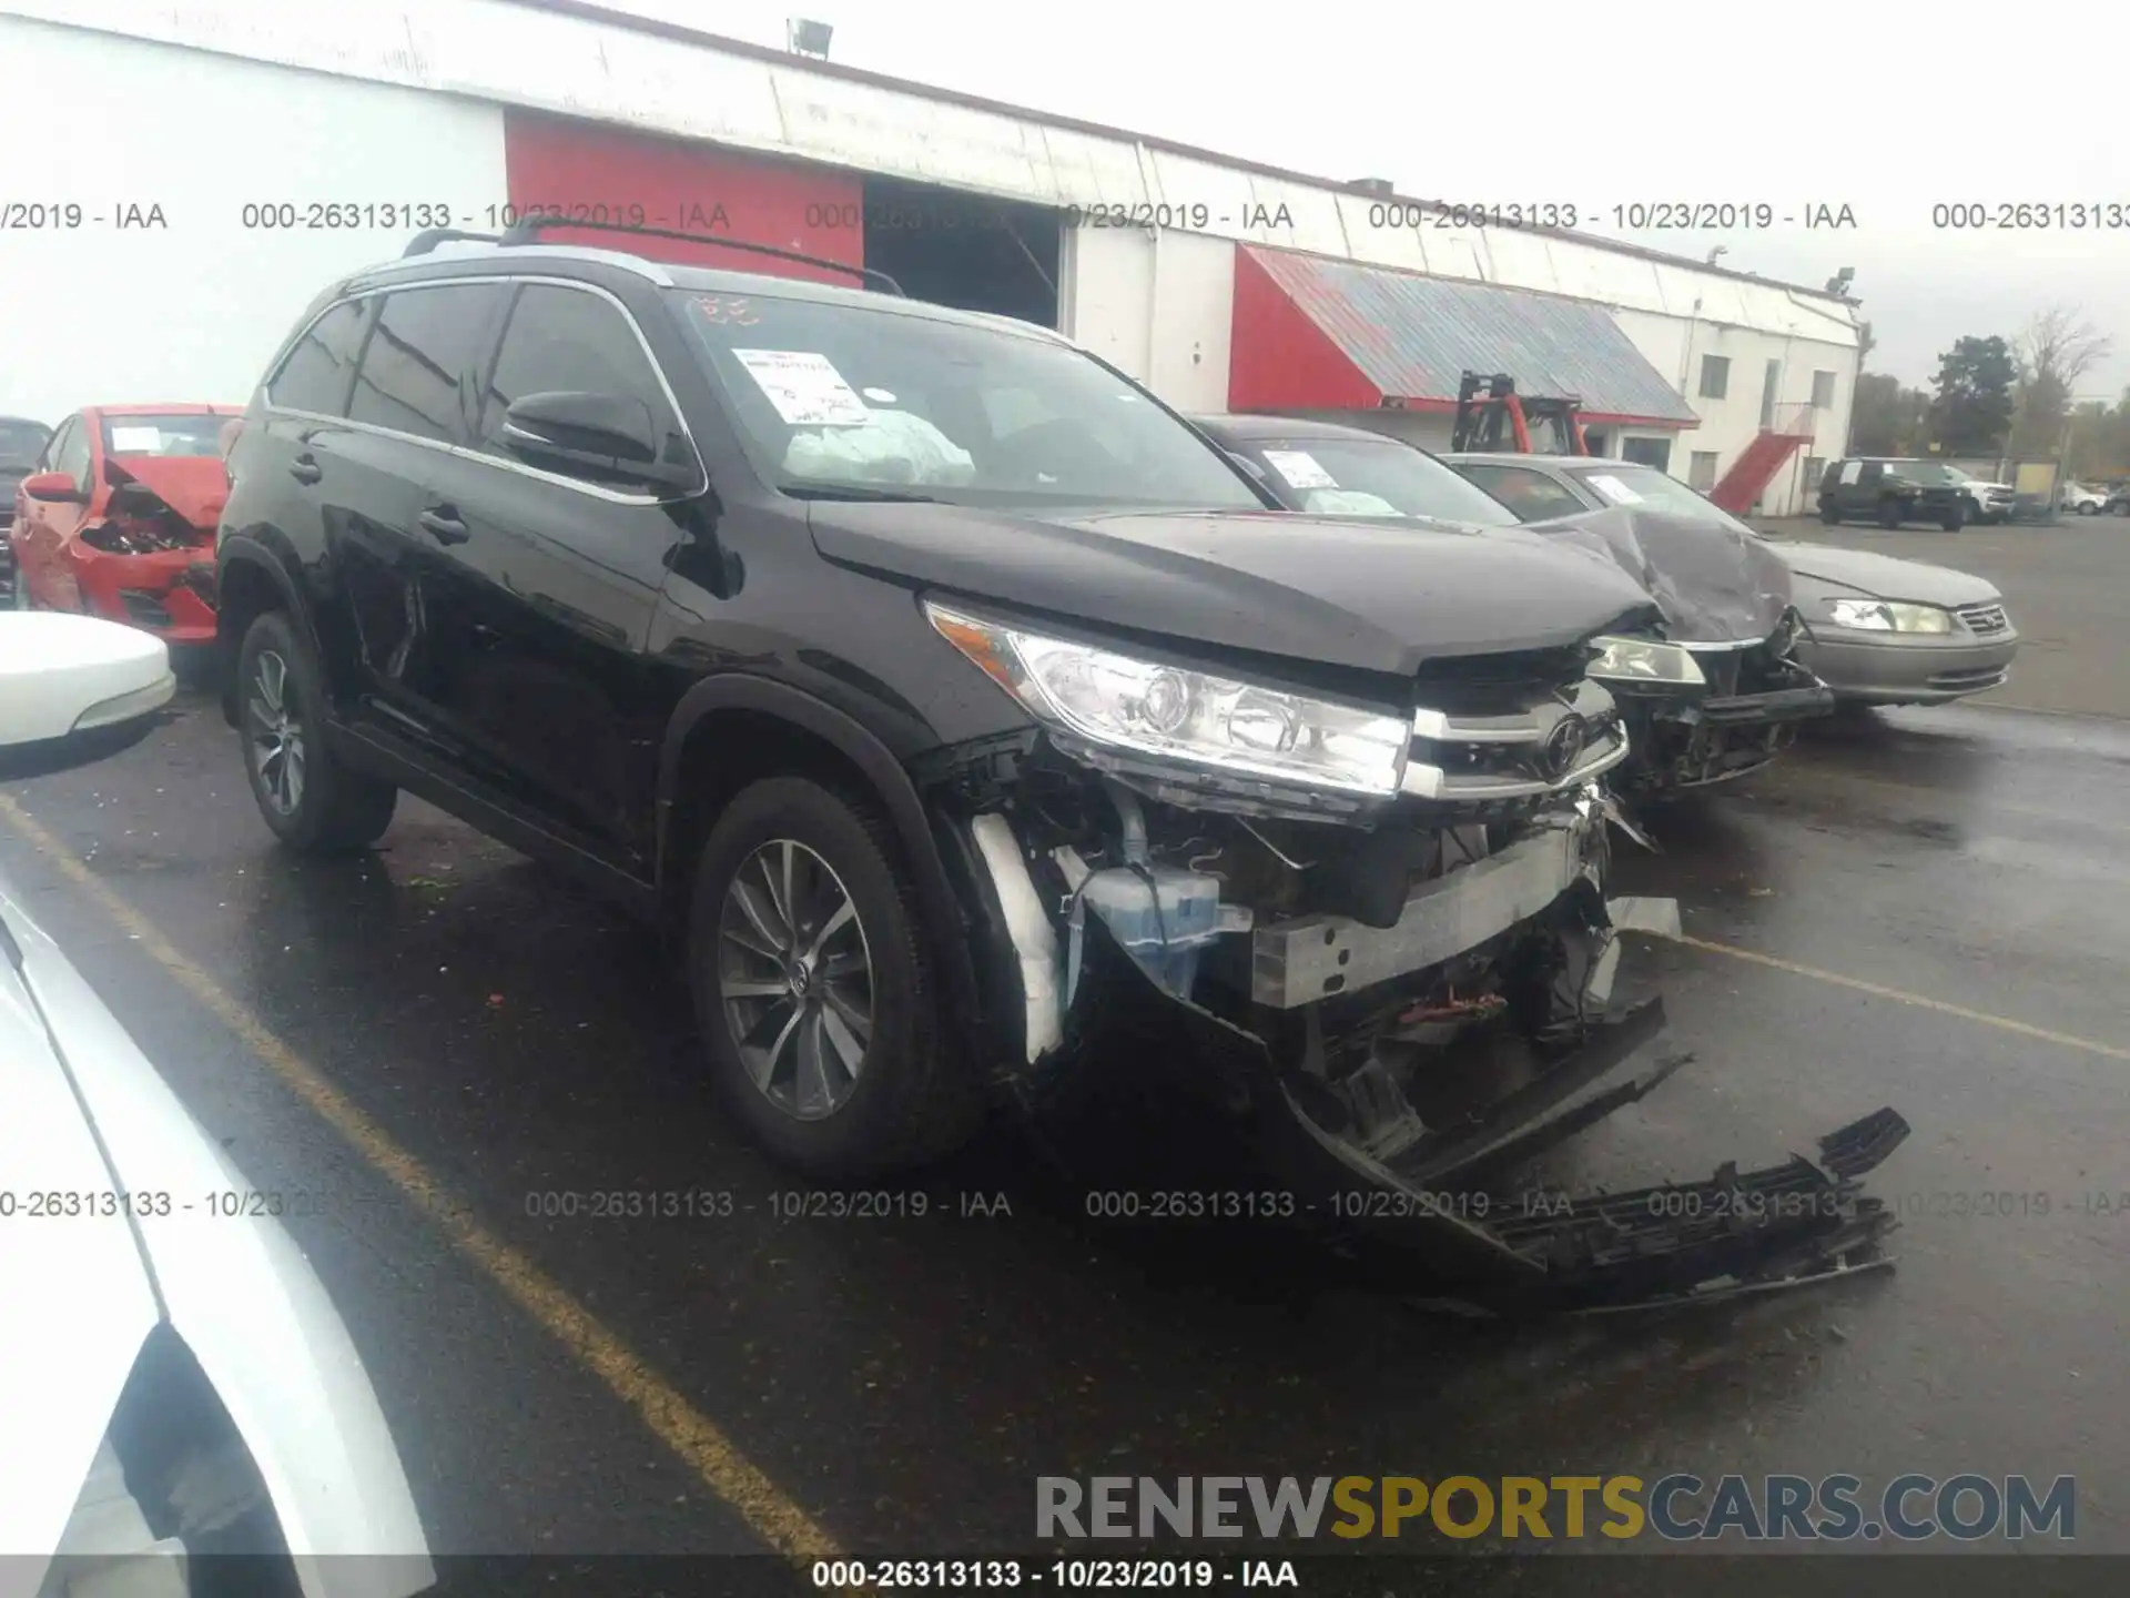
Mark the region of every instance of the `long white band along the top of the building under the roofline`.
MULTIPOLYGON (((1391 226, 1380 196, 1161 149, 1127 132, 1046 124, 858 83, 799 58, 526 11, 503 0, 0 0, 17 13, 202 51, 479 100, 541 107, 645 132, 831 162, 1035 200, 1203 207, 1199 230, 1442 277, 1540 288, 1653 313, 1702 313, 1783 337, 1855 345, 1847 307, 1774 283, 1651 260, 1589 239, 1504 228, 1391 226), (1284 209, 1284 217, 1282 217, 1284 209)), ((1197 222, 1197 219, 1195 219, 1197 222)))

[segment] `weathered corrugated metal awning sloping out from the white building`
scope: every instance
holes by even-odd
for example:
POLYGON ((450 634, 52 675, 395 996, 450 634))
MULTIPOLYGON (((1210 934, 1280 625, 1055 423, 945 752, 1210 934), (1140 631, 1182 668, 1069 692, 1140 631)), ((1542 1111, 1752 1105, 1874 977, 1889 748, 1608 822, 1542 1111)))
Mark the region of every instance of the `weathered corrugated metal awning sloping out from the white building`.
POLYGON ((1593 415, 1700 420, 1602 305, 1289 249, 1240 249, 1384 396, 1453 401, 1463 373, 1508 373, 1519 394, 1574 394, 1593 415))

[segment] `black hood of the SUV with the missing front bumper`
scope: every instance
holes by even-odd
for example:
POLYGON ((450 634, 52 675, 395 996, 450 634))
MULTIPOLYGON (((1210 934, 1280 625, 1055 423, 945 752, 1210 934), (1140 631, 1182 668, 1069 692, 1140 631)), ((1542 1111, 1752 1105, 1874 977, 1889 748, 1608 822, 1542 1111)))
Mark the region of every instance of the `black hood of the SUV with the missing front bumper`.
POLYGON ((822 558, 1074 620, 1410 678, 1423 661, 1580 643, 1651 616, 1557 539, 1291 511, 995 511, 816 501, 822 558))

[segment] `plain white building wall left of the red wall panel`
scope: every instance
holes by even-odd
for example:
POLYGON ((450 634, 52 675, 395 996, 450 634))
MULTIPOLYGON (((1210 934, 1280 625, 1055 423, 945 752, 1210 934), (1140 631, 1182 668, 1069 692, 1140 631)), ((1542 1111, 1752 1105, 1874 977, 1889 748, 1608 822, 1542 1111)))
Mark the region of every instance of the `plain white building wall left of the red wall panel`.
POLYGON ((11 17, 0 62, 6 196, 85 213, 77 230, 0 234, 6 415, 241 405, 311 296, 413 232, 247 230, 245 202, 473 215, 507 198, 498 107, 11 17), (117 230, 121 202, 160 205, 168 226, 117 230))

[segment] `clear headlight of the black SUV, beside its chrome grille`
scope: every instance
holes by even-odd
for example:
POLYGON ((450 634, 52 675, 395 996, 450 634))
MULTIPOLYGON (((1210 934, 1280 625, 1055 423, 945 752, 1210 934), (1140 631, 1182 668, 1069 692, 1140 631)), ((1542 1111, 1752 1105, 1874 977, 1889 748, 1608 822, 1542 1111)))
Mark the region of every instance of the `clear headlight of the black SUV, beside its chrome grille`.
POLYGON ((1046 727, 1238 776, 1391 797, 1412 722, 924 605, 939 635, 1046 727))

